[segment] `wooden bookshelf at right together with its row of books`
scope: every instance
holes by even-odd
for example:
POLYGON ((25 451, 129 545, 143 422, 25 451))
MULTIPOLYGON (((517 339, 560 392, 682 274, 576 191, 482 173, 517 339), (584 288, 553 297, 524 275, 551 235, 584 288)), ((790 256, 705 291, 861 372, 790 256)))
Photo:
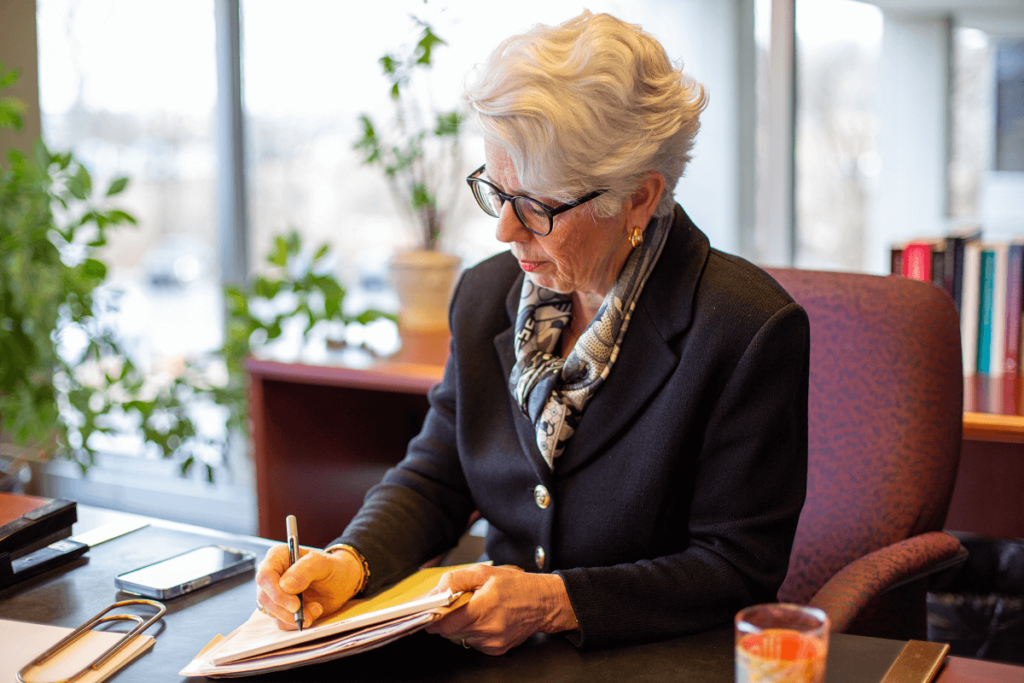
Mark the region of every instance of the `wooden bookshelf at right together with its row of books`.
POLYGON ((978 225, 894 245, 893 274, 929 281, 961 316, 961 464, 946 528, 1024 538, 1024 241, 983 241, 978 225))

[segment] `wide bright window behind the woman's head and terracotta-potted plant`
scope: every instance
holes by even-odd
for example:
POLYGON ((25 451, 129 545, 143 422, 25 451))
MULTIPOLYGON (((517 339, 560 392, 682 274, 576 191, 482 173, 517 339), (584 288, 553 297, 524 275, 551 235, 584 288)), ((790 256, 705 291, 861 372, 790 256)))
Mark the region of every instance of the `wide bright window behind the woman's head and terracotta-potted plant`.
MULTIPOLYGON (((713 104, 677 197, 715 246, 734 250, 733 199, 723 189, 731 187, 735 172, 728 60, 733 10, 701 2, 673 4, 671 11, 657 2, 604 1, 588 8, 640 24, 710 88, 713 104)), ((389 255, 409 244, 379 169, 361 166, 352 144, 359 135, 359 114, 389 117, 388 85, 378 59, 414 41, 418 31, 411 16, 430 23, 447 42, 434 55, 429 93, 437 109, 451 110, 466 73, 501 39, 581 10, 579 3, 565 0, 529 0, 514 12, 466 0, 406 0, 302 2, 284 11, 280 3, 245 0, 243 91, 255 265, 273 237, 292 226, 309 243, 331 243, 342 280, 349 284, 380 276, 389 255)), ((462 176, 482 157, 480 140, 470 137, 462 176)), ((444 246, 465 265, 504 251, 494 238, 494 221, 475 207, 465 183, 457 197, 451 220, 456 231, 444 246)))

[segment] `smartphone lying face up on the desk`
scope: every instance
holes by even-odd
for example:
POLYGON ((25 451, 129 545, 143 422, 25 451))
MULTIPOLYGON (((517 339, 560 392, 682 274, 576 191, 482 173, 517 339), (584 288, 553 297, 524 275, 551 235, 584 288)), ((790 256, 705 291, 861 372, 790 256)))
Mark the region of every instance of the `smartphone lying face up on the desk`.
POLYGON ((256 555, 223 546, 203 546, 118 574, 114 586, 147 598, 176 598, 256 566, 256 555))

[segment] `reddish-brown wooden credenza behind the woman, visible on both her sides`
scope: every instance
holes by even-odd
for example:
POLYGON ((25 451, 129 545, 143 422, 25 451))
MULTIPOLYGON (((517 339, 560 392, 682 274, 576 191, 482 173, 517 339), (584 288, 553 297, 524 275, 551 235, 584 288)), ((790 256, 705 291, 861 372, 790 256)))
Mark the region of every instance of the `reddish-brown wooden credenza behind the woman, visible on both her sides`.
MULTIPOLYGON (((305 545, 341 533, 419 432, 447 352, 441 333, 407 337, 396 356, 362 369, 250 358, 259 535, 284 541, 290 514, 305 545)), ((1024 537, 1024 382, 965 378, 964 405, 946 528, 1024 537)))

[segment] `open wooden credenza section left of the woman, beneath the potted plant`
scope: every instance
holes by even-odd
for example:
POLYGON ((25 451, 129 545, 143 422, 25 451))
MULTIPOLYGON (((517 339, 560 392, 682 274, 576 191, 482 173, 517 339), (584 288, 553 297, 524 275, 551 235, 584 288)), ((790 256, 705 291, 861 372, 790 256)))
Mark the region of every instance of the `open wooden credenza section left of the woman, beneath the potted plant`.
POLYGON ((284 541, 295 515, 303 545, 337 538, 419 433, 447 347, 446 332, 406 337, 362 369, 249 358, 259 536, 284 541))

